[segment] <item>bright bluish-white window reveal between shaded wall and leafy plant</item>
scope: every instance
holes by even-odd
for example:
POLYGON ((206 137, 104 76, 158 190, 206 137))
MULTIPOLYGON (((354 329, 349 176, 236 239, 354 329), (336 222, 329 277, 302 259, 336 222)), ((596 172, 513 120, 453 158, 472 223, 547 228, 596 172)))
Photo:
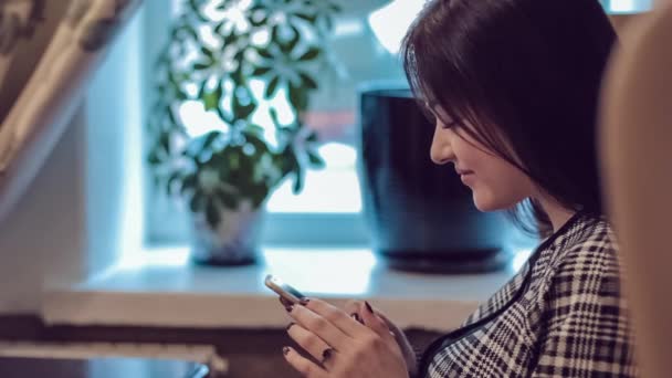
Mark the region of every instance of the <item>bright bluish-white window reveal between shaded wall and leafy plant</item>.
POLYGON ((86 220, 88 271, 137 253, 141 204, 141 7, 111 46, 86 96, 86 220))

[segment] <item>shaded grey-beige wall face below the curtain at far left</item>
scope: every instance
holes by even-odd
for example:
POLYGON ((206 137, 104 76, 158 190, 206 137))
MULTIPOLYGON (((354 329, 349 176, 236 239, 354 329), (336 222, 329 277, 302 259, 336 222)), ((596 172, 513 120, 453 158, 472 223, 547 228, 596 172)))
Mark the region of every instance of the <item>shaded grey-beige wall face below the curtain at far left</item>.
POLYGON ((0 227, 0 313, 33 313, 44 284, 85 274, 80 111, 51 158, 0 227))

